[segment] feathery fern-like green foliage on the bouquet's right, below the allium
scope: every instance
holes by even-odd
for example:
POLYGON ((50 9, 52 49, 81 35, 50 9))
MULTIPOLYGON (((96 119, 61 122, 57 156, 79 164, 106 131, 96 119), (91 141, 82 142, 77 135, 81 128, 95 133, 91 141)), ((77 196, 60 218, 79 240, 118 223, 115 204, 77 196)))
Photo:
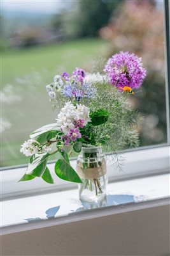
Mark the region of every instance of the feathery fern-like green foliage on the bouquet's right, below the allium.
POLYGON ((83 139, 91 145, 104 145, 107 151, 138 147, 137 127, 141 117, 131 107, 129 93, 119 92, 108 83, 96 83, 94 86, 97 93, 89 102, 90 111, 97 113, 99 106, 102 106, 108 118, 104 124, 85 127, 83 139))

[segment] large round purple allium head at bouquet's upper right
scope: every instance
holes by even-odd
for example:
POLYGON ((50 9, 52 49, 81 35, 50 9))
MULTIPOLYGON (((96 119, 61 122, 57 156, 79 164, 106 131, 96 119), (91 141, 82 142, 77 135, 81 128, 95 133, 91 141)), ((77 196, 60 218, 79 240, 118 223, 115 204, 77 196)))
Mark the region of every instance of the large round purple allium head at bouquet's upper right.
POLYGON ((113 55, 106 63, 104 72, 110 77, 110 83, 118 88, 124 86, 139 88, 146 77, 141 58, 129 52, 113 55))

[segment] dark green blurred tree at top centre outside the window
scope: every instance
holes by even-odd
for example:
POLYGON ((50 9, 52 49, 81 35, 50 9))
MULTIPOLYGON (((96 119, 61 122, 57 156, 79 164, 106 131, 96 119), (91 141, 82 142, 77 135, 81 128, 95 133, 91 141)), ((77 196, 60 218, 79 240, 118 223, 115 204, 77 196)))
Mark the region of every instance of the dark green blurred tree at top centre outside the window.
POLYGON ((122 3, 123 0, 76 1, 74 12, 66 15, 63 11, 53 17, 53 28, 62 27, 67 38, 98 37, 99 29, 108 24, 122 3))

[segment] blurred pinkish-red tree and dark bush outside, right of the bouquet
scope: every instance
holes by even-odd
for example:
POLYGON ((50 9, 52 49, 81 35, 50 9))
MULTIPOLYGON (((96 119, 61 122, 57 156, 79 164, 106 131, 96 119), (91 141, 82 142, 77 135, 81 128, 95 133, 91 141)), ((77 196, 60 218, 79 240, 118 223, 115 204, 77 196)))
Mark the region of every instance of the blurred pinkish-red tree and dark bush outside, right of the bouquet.
POLYGON ((167 141, 164 14, 160 7, 156 1, 124 1, 108 26, 100 30, 101 37, 110 41, 108 57, 119 51, 134 52, 147 70, 141 92, 131 99, 144 118, 141 145, 167 141))

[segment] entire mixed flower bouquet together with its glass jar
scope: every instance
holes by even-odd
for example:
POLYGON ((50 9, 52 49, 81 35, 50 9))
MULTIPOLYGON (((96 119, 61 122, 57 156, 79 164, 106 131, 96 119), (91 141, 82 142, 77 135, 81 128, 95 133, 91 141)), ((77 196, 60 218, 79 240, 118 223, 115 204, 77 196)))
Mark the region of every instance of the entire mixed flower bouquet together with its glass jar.
POLYGON ((92 73, 76 68, 71 75, 55 76, 46 91, 59 115, 54 124, 32 132, 22 145, 20 152, 30 160, 20 181, 41 177, 53 183, 46 163, 57 154, 55 173, 60 179, 78 182, 82 200, 103 198, 107 183, 103 153, 115 153, 119 164, 119 150, 138 146, 140 116, 128 98, 134 97, 145 76, 141 58, 129 52, 98 63, 92 73), (74 170, 69 157, 80 152, 74 170))

